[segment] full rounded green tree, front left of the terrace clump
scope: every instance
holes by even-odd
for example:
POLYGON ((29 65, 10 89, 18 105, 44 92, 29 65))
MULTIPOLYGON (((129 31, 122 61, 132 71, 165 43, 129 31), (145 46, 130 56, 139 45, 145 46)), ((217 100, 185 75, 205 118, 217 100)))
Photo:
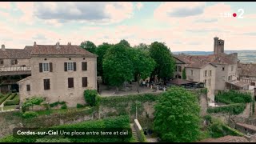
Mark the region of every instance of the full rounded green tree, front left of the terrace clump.
POLYGON ((123 82, 130 82, 134 78, 134 65, 129 58, 128 46, 118 43, 111 46, 103 58, 104 77, 110 86, 122 86, 123 82))

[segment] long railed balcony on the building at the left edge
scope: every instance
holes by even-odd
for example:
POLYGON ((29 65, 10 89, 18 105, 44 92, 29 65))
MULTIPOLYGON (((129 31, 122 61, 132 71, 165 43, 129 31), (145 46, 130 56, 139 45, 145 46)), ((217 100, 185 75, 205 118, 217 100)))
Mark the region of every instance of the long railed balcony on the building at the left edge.
POLYGON ((31 67, 30 66, 0 67, 0 76, 18 75, 18 74, 31 74, 31 67))

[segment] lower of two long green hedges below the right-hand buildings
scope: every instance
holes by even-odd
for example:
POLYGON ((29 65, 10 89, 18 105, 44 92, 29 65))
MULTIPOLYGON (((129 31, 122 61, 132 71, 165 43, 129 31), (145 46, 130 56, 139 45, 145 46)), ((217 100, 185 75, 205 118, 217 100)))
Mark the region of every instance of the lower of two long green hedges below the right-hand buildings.
POLYGON ((208 113, 241 114, 246 109, 245 103, 231 104, 229 106, 209 107, 208 113))

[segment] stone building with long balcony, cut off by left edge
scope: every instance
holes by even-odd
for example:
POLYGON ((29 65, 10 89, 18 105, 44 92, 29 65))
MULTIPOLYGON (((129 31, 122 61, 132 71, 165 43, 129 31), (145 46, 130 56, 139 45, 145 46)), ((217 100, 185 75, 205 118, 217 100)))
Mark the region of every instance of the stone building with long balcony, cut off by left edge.
POLYGON ((18 91, 16 82, 31 74, 30 52, 32 47, 10 49, 5 45, 0 49, 0 92, 6 94, 18 91))

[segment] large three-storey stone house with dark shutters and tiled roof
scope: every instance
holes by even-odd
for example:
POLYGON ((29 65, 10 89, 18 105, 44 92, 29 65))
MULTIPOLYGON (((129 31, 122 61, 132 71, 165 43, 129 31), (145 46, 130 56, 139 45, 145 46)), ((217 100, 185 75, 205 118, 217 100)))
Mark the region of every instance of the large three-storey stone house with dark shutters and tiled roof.
POLYGON ((42 96, 67 106, 85 103, 84 90, 97 89, 97 55, 68 45, 37 45, 30 53, 31 76, 18 82, 21 102, 42 96))

